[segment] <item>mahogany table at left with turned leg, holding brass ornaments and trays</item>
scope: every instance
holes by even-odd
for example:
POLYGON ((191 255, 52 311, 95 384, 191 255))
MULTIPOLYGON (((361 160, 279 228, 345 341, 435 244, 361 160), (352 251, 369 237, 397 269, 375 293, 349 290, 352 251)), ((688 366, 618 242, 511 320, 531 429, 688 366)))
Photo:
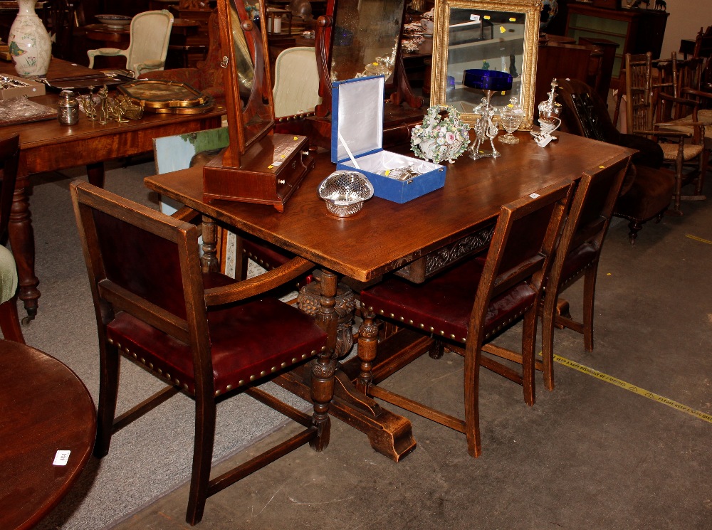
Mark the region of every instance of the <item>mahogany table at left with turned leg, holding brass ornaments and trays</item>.
MULTIPOLYGON (((0 74, 16 75, 12 63, 0 63, 0 74)), ((97 70, 51 60, 48 80, 81 75, 97 75, 97 70)), ((56 109, 58 94, 47 89, 46 95, 31 100, 56 109)), ((20 134, 20 164, 9 223, 9 238, 19 275, 19 298, 32 319, 37 312, 40 292, 35 275, 35 247, 31 224, 28 176, 43 171, 60 171, 86 166, 89 181, 103 186, 104 162, 152 152, 153 139, 220 127, 225 106, 216 104, 202 114, 152 114, 145 112, 141 120, 106 124, 90 122, 80 112, 79 123, 70 127, 58 120, 45 120, 3 126, 0 134, 20 134)))

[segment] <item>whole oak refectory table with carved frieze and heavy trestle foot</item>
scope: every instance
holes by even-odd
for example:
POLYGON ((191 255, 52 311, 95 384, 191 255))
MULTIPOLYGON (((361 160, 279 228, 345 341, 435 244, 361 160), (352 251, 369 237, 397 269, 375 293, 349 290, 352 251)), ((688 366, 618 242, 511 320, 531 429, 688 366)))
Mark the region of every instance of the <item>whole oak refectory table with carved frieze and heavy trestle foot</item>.
MULTIPOLYGON (((214 266, 215 221, 269 241, 321 267, 325 277, 340 275, 373 282, 396 272, 422 282, 455 260, 488 245, 491 226, 501 205, 564 179, 578 179, 612 157, 631 152, 595 140, 557 133, 541 148, 528 132, 517 132, 520 143, 499 144, 502 156, 474 161, 466 154, 447 166, 445 186, 413 201, 399 204, 371 198, 355 216, 330 215, 318 197, 320 182, 336 167, 328 153, 316 155, 315 167, 294 192, 283 213, 267 205, 205 201, 200 167, 145 179, 145 185, 203 214, 204 266, 214 266)), ((239 178, 239 177, 236 177, 239 178)), ((322 307, 334 307, 334 288, 323 292, 322 307)), ((335 326, 335 319, 328 321, 335 326)), ((403 330, 389 344, 379 345, 375 382, 395 369, 399 359, 422 354, 431 339, 403 330), (416 338, 417 337, 417 338, 416 338), (403 351, 406 353, 403 354, 403 351)), ((340 364, 330 413, 362 430, 372 447, 399 460, 414 449, 409 420, 380 407, 355 388, 359 359, 340 364)), ((308 372, 308 371, 307 371, 308 372)), ((308 373, 287 373, 279 384, 309 399, 308 373)))

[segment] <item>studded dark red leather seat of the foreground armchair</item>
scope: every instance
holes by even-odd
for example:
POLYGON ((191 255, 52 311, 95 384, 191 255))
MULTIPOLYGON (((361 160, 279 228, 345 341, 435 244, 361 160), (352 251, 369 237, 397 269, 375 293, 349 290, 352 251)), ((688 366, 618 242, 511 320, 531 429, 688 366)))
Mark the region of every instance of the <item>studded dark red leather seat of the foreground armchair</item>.
MULTIPOLYGON (((217 275, 211 276, 206 287, 223 283, 216 282, 217 275)), ((216 394, 313 357, 326 341, 312 317, 276 299, 213 309, 208 325, 216 394), (254 329, 259 329, 259 334, 254 329), (234 340, 236 336, 239 341, 234 340)), ((107 335, 152 371, 195 392, 193 358, 187 344, 125 312, 108 325, 107 335)))

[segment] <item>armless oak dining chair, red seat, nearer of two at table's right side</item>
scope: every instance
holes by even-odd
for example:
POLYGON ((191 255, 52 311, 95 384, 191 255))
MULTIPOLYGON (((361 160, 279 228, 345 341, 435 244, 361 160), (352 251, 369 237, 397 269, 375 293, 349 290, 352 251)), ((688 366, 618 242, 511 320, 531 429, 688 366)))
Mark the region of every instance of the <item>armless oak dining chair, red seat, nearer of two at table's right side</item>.
MULTIPOLYGON (((570 182, 562 182, 502 206, 486 256, 469 258, 422 284, 391 276, 363 290, 357 386, 369 396, 465 433, 468 453, 478 457, 480 366, 520 383, 525 402, 533 405, 535 401, 538 308, 571 187, 570 182), (442 356, 444 347, 464 356, 464 420, 377 385, 382 376, 371 369, 377 356, 376 317, 432 336, 431 356, 442 356), (520 320, 520 352, 491 344, 494 336, 520 320), (513 361, 521 372, 483 356, 483 352, 513 361)), ((390 373, 413 360, 412 355, 392 359, 390 373)))

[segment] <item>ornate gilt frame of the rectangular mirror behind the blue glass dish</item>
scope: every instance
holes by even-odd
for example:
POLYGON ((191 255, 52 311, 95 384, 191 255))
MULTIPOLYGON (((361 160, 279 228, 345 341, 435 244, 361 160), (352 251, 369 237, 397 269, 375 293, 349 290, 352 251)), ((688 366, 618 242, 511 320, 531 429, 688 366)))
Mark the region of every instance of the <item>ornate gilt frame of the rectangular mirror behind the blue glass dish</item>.
MULTIPOLYGON (((524 50, 521 67, 522 85, 520 105, 526 119, 519 127, 522 130, 532 128, 534 120, 534 90, 536 85, 536 60, 539 46, 539 18, 541 0, 436 0, 435 25, 433 28, 433 71, 431 77, 431 105, 447 105, 446 84, 448 68, 448 46, 450 9, 476 9, 479 11, 502 11, 523 13, 526 16, 524 27, 524 50)), ((461 119, 473 123, 477 115, 462 113, 461 119)))

